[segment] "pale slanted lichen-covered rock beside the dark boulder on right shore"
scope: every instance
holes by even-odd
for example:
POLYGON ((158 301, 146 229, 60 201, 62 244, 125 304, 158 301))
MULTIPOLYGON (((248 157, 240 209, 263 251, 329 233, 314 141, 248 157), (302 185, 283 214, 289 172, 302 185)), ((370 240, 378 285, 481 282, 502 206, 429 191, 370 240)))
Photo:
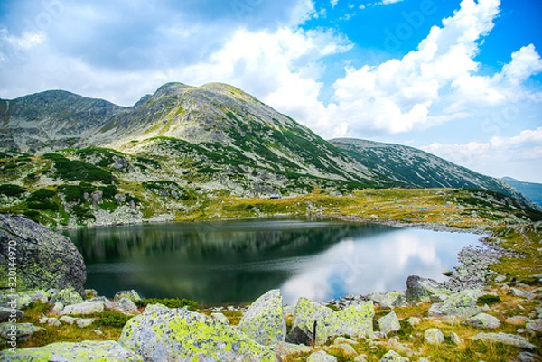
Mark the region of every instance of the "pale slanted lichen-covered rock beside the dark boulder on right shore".
POLYGON ((448 315, 458 317, 471 317, 479 312, 476 301, 483 293, 479 290, 465 290, 453 294, 442 303, 435 303, 429 308, 431 317, 444 317, 448 315))

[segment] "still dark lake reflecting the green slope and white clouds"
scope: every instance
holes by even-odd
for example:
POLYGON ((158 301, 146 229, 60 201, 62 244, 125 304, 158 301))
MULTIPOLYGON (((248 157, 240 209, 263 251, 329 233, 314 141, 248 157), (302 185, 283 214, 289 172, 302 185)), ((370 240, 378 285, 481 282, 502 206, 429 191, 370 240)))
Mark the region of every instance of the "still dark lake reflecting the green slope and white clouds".
POLYGON ((87 288, 112 297, 253 302, 280 288, 285 302, 405 290, 418 274, 444 281, 478 236, 306 219, 266 219, 70 230, 87 288))

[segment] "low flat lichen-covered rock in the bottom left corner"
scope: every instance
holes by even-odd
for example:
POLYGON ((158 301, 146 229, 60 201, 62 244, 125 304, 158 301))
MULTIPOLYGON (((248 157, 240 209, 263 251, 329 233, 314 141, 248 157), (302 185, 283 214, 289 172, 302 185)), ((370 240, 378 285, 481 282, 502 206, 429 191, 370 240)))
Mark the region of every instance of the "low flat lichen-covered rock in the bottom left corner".
POLYGON ((143 362, 143 359, 117 342, 86 340, 79 343, 60 342, 45 347, 16 349, 15 352, 3 351, 0 352, 0 361, 143 362))

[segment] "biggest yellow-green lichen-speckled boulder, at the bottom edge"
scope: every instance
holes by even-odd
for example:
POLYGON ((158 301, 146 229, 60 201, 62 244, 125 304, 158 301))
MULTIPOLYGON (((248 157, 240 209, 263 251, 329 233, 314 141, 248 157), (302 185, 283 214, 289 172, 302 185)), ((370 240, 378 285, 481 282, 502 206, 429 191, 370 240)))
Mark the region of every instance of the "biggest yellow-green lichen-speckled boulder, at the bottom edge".
POLYGON ((274 351, 234 327, 200 313, 159 305, 148 306, 128 320, 119 343, 146 362, 276 362, 274 351))

